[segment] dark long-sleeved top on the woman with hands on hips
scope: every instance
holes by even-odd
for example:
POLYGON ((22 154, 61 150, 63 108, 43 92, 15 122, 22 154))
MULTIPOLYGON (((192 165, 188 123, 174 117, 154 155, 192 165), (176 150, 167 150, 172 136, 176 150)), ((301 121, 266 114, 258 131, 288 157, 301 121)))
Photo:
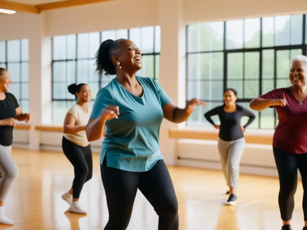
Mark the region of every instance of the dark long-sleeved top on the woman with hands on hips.
POLYGON ((246 128, 255 120, 255 114, 252 113, 250 110, 245 109, 240 105, 236 105, 237 109, 235 112, 227 113, 224 110, 224 105, 218 106, 207 113, 204 114, 205 118, 210 122, 212 125, 214 122, 212 121, 211 117, 214 115, 218 115, 220 118, 220 134, 219 137, 225 141, 232 141, 238 140, 244 137, 244 134, 241 129, 241 118, 243 116, 249 117, 246 125, 243 127, 246 128))

